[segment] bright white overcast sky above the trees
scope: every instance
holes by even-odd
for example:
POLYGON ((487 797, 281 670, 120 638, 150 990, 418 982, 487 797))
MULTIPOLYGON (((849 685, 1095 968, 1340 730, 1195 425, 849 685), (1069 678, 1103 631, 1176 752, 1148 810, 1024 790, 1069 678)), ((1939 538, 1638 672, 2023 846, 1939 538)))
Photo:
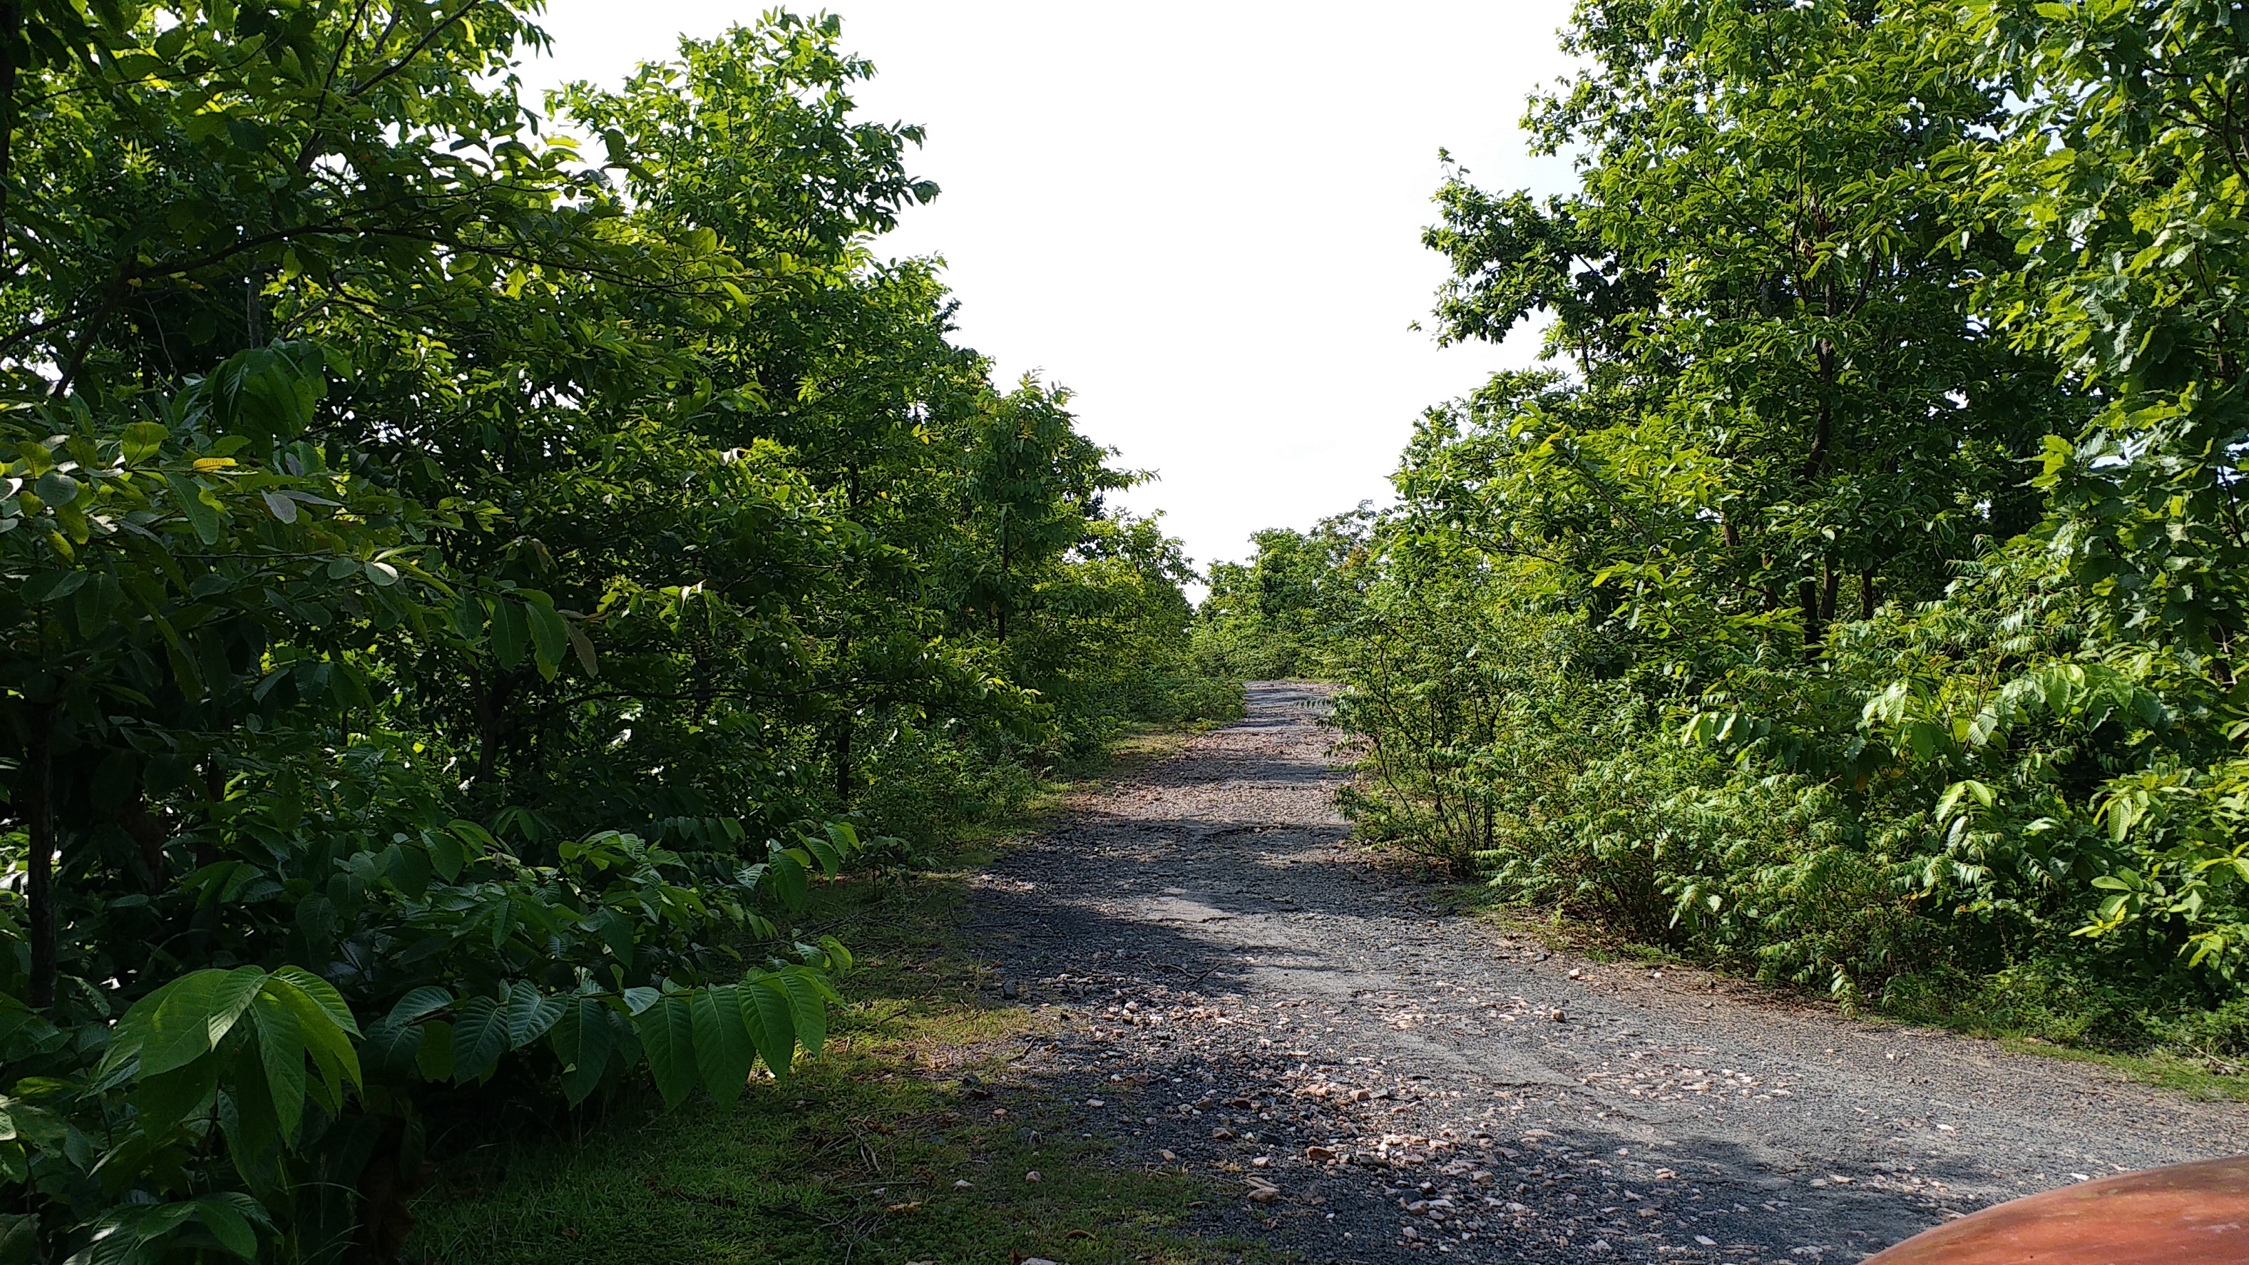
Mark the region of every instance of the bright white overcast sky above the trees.
MULTIPOLYGON (((526 97, 618 83, 760 2, 549 0, 526 97)), ((801 7, 798 11, 816 11, 801 7)), ((1561 191, 1525 97, 1568 63, 1565 0, 839 0, 873 59, 864 115, 915 122, 942 187, 877 250, 936 254, 960 340, 1003 383, 1075 392, 1082 428, 1158 482, 1199 565, 1262 527, 1385 502, 1419 412, 1536 338, 1439 349, 1421 248, 1444 146, 1487 187, 1561 191)))

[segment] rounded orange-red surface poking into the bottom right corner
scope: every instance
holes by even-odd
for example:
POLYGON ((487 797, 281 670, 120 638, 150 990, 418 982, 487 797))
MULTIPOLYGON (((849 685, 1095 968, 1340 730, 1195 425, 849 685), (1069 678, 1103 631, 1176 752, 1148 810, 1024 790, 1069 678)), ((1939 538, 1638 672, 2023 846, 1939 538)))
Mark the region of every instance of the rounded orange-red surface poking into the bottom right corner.
POLYGON ((2242 1265, 2249 1155, 2078 1182, 1916 1233, 1864 1265, 2242 1265))

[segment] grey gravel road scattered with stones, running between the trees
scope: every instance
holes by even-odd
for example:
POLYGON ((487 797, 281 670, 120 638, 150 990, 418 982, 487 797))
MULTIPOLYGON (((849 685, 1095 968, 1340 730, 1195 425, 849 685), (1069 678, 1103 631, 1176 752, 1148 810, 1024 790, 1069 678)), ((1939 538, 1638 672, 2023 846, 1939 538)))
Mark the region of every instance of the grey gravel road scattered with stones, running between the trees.
POLYGON ((1019 1074, 1210 1231, 1304 1260, 1858 1260, 1959 1211, 2249 1150, 2249 1110, 1693 972, 1547 954, 1343 846, 1316 687, 1082 797, 978 932, 1066 1040, 1019 1074), (1169 1157, 1167 1157, 1169 1155, 1169 1157))

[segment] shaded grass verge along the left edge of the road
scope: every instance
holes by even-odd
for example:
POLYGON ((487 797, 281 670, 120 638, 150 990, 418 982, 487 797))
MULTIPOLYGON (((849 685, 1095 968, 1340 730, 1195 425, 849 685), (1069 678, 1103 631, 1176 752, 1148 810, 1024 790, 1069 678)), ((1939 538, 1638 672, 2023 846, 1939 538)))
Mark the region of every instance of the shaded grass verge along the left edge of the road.
MULTIPOLYGON (((1136 768, 1178 736, 1122 741, 1136 768)), ((1064 790, 1064 788, 1055 788, 1064 790)), ((1046 806, 1053 797, 1046 799, 1046 806)), ((859 957, 828 1047, 731 1110, 645 1098, 576 1137, 495 1141, 441 1164, 409 1260, 475 1265, 933 1260, 1201 1265, 1262 1256, 1183 1233, 1203 1177, 1064 1128, 1021 1065, 1055 1022, 1005 1004, 960 952, 967 876, 1001 837, 906 880, 825 885, 816 916, 859 957), (1039 1173, 1039 1182, 1026 1175, 1039 1173), (958 1186, 969 1182, 969 1186, 958 1186)))

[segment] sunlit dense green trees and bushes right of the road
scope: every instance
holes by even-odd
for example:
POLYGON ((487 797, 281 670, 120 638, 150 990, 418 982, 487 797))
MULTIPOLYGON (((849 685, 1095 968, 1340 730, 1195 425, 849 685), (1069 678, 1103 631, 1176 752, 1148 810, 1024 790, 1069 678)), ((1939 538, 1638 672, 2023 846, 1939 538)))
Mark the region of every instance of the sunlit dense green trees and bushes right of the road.
POLYGON ((1424 419, 1316 619, 1365 831, 1844 999, 2238 1044, 2249 9, 1565 41, 1579 189, 1457 171, 1428 232, 1444 333, 1545 313, 1552 369, 1424 419))

